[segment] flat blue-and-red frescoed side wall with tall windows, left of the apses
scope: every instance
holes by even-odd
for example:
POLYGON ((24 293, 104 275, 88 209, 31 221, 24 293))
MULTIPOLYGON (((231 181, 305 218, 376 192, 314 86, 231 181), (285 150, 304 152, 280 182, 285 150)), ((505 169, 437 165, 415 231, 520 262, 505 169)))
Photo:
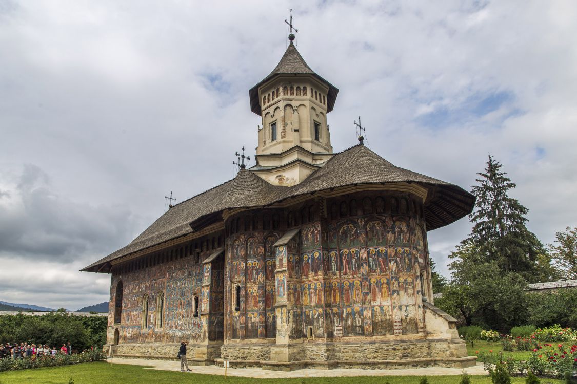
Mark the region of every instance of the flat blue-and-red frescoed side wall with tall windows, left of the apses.
MULTIPOLYGON (((210 275, 203 274, 201 261, 218 247, 219 242, 223 242, 222 238, 220 241, 218 237, 202 238, 115 266, 111 279, 110 302, 114 307, 116 288, 122 281, 122 315, 120 324, 114 324, 114 310, 111 311, 107 343, 114 343, 114 332, 117 329, 121 344, 178 343, 183 339, 193 344, 204 343, 209 329, 211 339, 220 337, 222 340, 222 261, 220 268, 217 267, 213 272, 213 276, 219 277, 212 278, 212 287, 215 288, 214 309, 220 308, 220 318, 217 313, 216 317, 211 319, 212 326, 209 327, 206 317, 203 320, 201 315, 193 315, 194 296, 199 296, 202 301, 203 279, 208 279, 210 283, 210 275), (143 315, 145 296, 148 297, 148 315, 143 315), (159 307, 160 296, 163 298, 162 312, 159 307), (159 322, 161 313, 162 326, 159 322), (146 322, 143 316, 147 318, 146 322)), ((204 302, 204 305, 207 304, 208 297, 204 302)))

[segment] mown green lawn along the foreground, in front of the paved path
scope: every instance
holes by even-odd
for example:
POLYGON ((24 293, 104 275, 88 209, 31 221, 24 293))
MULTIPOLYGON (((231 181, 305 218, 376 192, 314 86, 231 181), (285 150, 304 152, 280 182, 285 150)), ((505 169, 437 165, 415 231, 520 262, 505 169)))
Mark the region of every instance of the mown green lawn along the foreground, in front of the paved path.
MULTIPOLYGON (((174 363, 177 366, 177 362, 174 363)), ((323 374, 320 371, 319 374, 323 374)), ((200 375, 182 373, 178 371, 156 371, 147 370, 142 366, 130 366, 125 364, 109 364, 106 362, 84 363, 73 366, 39 368, 36 370, 0 372, 0 384, 21 384, 21 383, 43 383, 43 384, 66 384, 69 379, 74 380, 74 384, 175 384, 175 383, 222 383, 222 384, 249 384, 257 379, 238 378, 215 375, 200 375)), ((460 376, 429 376, 430 384, 458 384, 460 376)), ((295 378, 295 379, 260 379, 261 382, 268 383, 293 383, 293 384, 345 384, 351 382, 362 382, 363 384, 418 384, 421 380, 419 376, 387 376, 387 377, 340 377, 340 378, 295 378)), ((513 383, 524 383, 524 378, 513 378, 513 383)), ((561 381, 544 379, 543 384, 560 384, 561 381)), ((489 384, 488 376, 471 376, 471 383, 489 384)))

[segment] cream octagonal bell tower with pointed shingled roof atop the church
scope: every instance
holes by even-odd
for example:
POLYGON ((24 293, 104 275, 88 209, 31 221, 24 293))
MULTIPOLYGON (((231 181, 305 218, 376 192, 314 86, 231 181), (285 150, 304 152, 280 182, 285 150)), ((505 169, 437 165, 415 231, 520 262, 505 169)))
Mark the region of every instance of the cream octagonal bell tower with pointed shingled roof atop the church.
POLYGON ((257 165, 251 170, 273 185, 295 185, 332 157, 327 113, 339 92, 314 73, 293 44, 279 64, 250 89, 251 111, 261 116, 257 165))

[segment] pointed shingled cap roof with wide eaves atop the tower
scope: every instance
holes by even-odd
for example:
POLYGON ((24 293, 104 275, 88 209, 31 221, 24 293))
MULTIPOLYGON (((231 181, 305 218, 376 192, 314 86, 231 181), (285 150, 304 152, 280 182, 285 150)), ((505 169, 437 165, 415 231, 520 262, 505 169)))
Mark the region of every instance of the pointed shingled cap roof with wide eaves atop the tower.
POLYGON ((280 59, 280 62, 277 64, 275 69, 273 69, 267 77, 265 77, 262 81, 260 81, 257 85, 253 86, 253 88, 249 90, 250 111, 256 113, 259 116, 262 112, 260 98, 258 97, 258 87, 278 75, 299 74, 313 75, 328 86, 329 90, 327 93, 327 112, 331 112, 332 108, 335 106, 336 95, 339 93, 339 90, 334 85, 317 75, 312 69, 310 69, 308 64, 306 64, 305 59, 303 59, 301 54, 298 53, 297 47, 294 46, 292 41, 290 44, 288 44, 287 50, 284 52, 283 57, 280 59))

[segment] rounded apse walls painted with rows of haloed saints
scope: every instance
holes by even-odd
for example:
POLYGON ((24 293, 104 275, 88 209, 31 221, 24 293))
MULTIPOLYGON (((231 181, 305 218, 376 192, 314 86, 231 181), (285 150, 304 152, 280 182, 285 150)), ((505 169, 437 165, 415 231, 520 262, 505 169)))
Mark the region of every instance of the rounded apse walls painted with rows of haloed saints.
POLYGON ((424 336, 422 201, 392 192, 312 199, 279 213, 275 231, 261 230, 254 218, 262 212, 253 215, 229 225, 225 339, 262 339, 263 324, 265 337, 275 337, 275 320, 278 340, 424 336), (298 235, 272 250, 291 228, 298 235))

